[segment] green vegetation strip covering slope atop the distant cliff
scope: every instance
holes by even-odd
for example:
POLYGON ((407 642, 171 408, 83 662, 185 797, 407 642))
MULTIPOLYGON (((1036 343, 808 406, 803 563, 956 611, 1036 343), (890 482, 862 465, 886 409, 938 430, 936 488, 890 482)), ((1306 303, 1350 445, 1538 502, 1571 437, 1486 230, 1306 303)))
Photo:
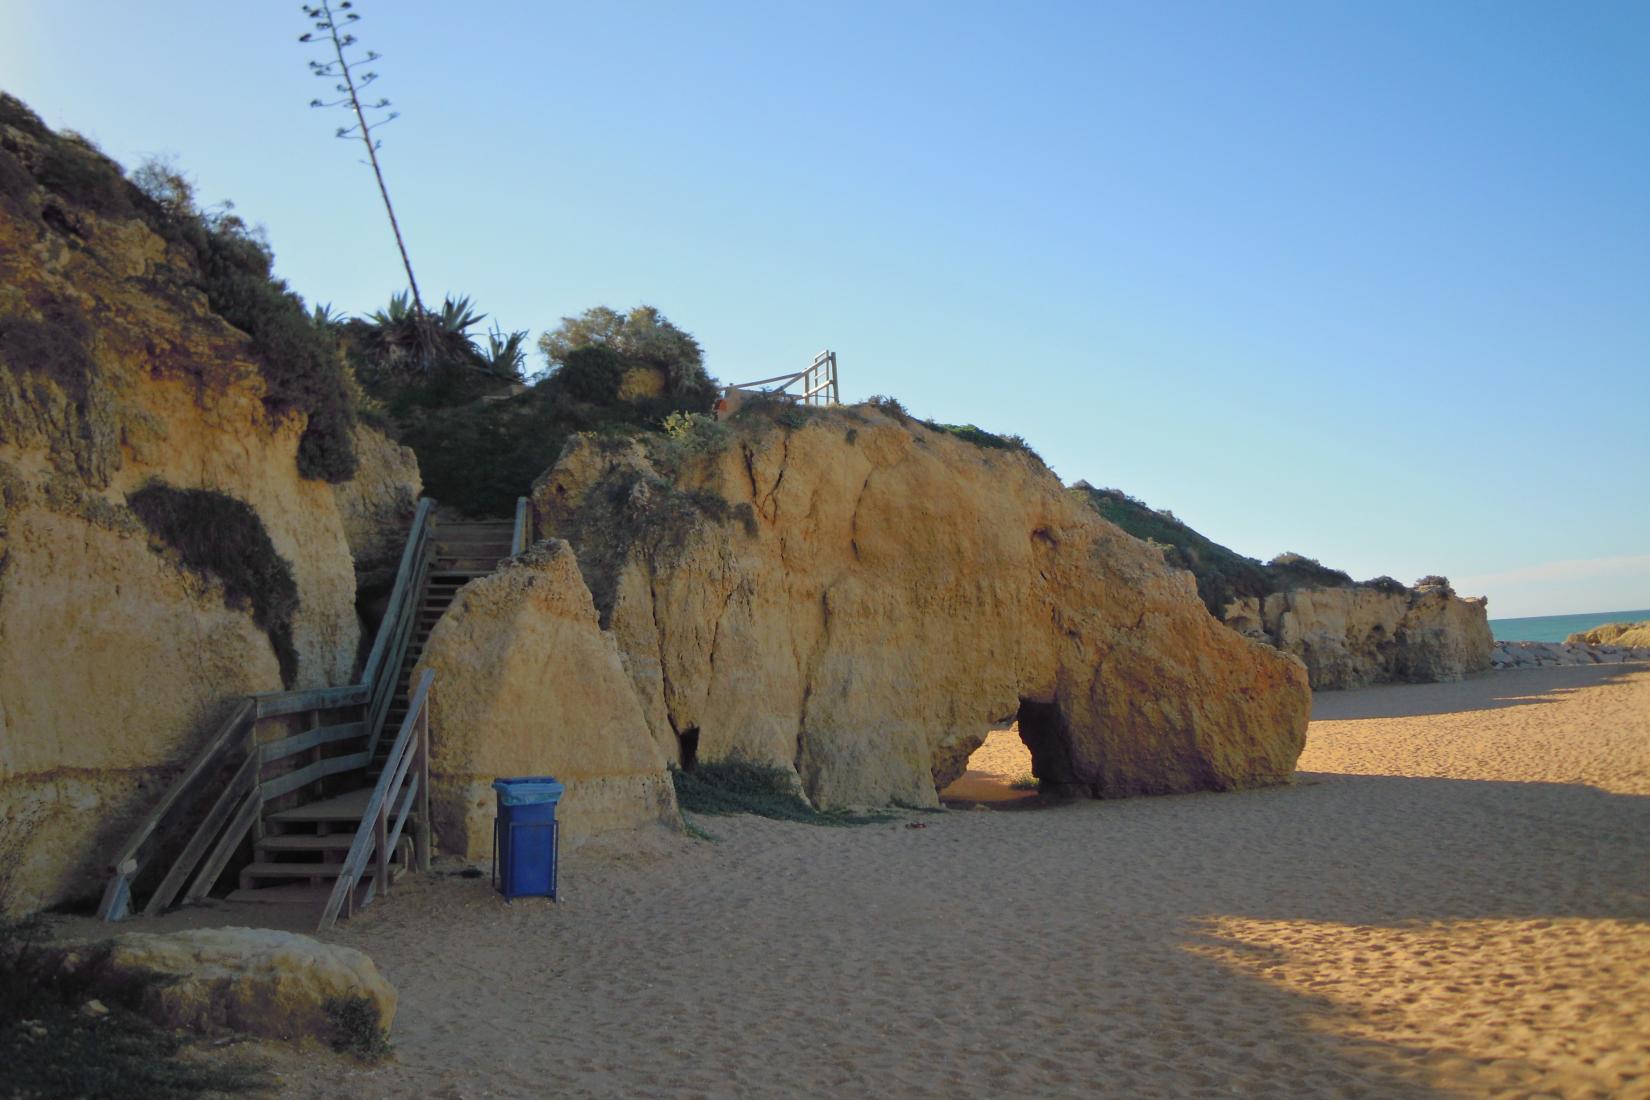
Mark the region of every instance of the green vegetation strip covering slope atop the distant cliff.
POLYGON ((1267 597, 1289 589, 1371 587, 1389 595, 1409 590, 1391 577, 1358 584, 1340 569, 1330 569, 1302 554, 1279 554, 1261 564, 1198 534, 1175 518, 1175 513, 1150 508, 1120 490, 1094 488, 1087 482, 1077 482, 1071 491, 1129 534, 1158 546, 1168 564, 1190 571, 1198 581, 1198 597, 1216 618, 1234 599, 1267 597))

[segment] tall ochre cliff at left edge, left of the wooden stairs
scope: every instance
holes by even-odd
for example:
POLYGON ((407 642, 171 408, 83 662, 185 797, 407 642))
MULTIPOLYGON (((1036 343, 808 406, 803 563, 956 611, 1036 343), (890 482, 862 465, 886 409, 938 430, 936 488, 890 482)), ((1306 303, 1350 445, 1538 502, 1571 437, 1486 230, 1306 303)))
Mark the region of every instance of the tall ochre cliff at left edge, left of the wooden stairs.
MULTIPOLYGON (((94 150, 0 101, 0 886, 99 859, 231 696, 348 683, 348 519, 200 259, 94 150), (216 546, 216 549, 214 549, 216 546), (229 559, 221 572, 203 564, 229 559), (206 557, 203 557, 206 554, 206 557)), ((365 439, 365 437, 363 437, 365 439)), ((353 493, 353 500, 350 495, 353 493)))

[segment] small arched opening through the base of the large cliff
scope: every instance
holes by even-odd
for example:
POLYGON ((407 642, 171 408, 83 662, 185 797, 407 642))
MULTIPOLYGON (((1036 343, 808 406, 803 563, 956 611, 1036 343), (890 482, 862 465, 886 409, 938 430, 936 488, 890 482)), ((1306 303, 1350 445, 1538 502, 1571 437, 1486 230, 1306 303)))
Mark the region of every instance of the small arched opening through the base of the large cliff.
POLYGON ((1071 793, 1071 750, 1054 703, 1021 699, 969 755, 967 770, 939 792, 947 806, 1030 810, 1071 793))

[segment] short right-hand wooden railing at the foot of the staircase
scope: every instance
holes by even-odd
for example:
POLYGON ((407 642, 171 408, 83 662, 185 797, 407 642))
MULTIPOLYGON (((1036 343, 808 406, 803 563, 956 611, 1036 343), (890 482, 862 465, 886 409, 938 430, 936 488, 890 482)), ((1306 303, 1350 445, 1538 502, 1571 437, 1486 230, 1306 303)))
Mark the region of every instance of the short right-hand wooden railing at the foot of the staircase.
POLYGON ((434 679, 436 673, 426 668, 417 688, 412 689, 408 716, 401 721, 401 731, 384 759, 384 770, 361 813, 350 854, 343 858, 332 897, 320 914, 318 928, 323 932, 340 914, 351 917, 360 905, 373 900, 373 894, 389 892, 389 866, 414 806, 417 806, 417 825, 412 831, 414 861, 419 871, 429 871, 429 686, 434 679), (360 889, 361 876, 373 864, 376 867, 371 881, 360 889), (360 899, 356 892, 361 892, 360 899))

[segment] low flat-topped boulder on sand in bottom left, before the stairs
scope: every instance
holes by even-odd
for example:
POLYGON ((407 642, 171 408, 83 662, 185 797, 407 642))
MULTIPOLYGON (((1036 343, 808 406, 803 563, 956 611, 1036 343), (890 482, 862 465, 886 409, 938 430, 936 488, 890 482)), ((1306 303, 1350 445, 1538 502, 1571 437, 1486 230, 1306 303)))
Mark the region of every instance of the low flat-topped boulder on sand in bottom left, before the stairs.
POLYGON ((41 948, 76 985, 162 1027, 267 1039, 335 1039, 337 1003, 366 999, 388 1036, 396 988, 353 947, 272 928, 130 932, 106 943, 41 948))

